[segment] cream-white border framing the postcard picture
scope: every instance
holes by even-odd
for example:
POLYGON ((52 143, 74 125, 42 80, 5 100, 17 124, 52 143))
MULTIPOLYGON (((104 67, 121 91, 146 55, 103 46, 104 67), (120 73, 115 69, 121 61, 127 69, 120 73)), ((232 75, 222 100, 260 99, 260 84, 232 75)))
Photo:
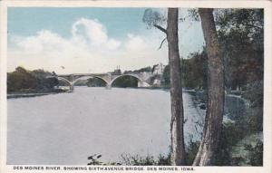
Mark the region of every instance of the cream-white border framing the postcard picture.
MULTIPOLYGON (((272 172, 272 56, 271 56, 271 39, 272 39, 272 3, 268 1, 2 1, 1 3, 1 28, 0 28, 0 172, 51 172, 47 171, 29 171, 13 169, 13 166, 6 165, 6 46, 7 46, 7 7, 213 7, 213 8, 264 8, 265 9, 265 66, 264 66, 264 166, 263 167, 194 167, 194 171, 182 172, 254 172, 254 173, 270 173, 272 172)), ((52 166, 52 165, 51 165, 52 166)), ((57 171, 68 172, 68 171, 57 171)), ((71 171, 69 171, 71 172, 71 171)), ((75 172, 75 171, 73 171, 75 172)), ((76 171, 76 172, 96 172, 96 171, 76 171)), ((100 171, 109 172, 109 171, 100 171)), ((111 171, 121 172, 121 171, 111 171)), ((126 171, 133 172, 133 171, 126 171)), ((142 171, 136 171, 142 172, 142 171)), ((161 172, 161 171, 148 171, 161 172)), ((163 171, 177 172, 177 171, 163 171)))

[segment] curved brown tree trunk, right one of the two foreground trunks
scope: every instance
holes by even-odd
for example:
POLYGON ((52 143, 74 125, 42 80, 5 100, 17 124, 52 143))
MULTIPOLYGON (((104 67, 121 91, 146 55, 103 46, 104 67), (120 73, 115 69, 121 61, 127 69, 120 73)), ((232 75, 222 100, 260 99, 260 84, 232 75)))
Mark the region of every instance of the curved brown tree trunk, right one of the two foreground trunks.
POLYGON ((221 137, 224 111, 223 59, 220 55, 219 40, 212 9, 199 9, 202 30, 208 50, 208 109, 202 140, 193 165, 212 165, 221 137))

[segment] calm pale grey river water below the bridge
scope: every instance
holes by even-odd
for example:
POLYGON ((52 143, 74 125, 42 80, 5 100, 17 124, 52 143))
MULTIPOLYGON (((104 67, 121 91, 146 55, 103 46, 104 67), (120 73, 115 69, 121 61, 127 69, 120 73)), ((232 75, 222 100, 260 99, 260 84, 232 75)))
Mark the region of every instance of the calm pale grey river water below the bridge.
MULTIPOLYGON (((204 111, 183 93, 185 140, 200 139, 204 111)), ((87 157, 167 155, 170 92, 76 87, 71 93, 9 99, 7 164, 86 165, 87 157)))

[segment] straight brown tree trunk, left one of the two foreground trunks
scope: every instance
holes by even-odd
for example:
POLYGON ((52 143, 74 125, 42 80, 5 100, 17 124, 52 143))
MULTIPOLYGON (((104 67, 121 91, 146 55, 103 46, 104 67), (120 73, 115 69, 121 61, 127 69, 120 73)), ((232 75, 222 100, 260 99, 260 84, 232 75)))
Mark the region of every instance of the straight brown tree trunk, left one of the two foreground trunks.
POLYGON ((170 65, 170 98, 171 98, 171 164, 185 164, 183 138, 183 102, 181 86, 181 69, 178 36, 178 8, 169 8, 167 20, 167 41, 170 65))

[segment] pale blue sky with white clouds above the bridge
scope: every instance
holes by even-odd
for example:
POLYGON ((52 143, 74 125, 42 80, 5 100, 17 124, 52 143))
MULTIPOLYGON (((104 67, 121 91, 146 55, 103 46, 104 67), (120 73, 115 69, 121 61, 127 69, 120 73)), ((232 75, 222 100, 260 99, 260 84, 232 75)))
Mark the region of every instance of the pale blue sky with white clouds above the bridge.
MULTIPOLYGON (((7 70, 17 66, 58 74, 136 70, 168 63, 165 34, 142 22, 146 8, 9 7, 7 70)), ((166 14, 166 9, 152 9, 166 14)), ((180 9, 180 17, 187 16, 180 9)), ((199 22, 179 24, 180 56, 204 44, 199 22)))

